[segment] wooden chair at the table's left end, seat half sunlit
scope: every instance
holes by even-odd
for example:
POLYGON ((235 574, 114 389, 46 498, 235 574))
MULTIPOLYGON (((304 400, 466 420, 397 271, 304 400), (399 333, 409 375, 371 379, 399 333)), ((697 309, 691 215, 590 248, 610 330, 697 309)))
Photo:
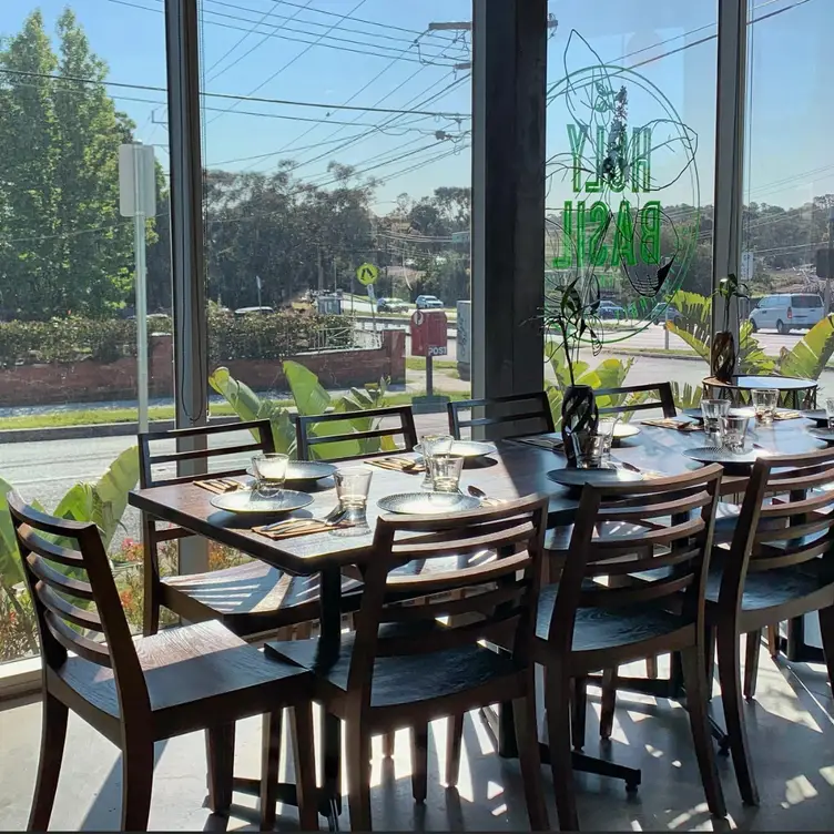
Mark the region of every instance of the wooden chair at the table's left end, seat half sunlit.
MULTIPOLYGON (((309 675, 269 660, 218 622, 131 637, 93 523, 47 516, 9 495, 43 669, 43 730, 29 828, 45 831, 70 710, 122 751, 122 831, 145 831, 154 742, 206 731, 208 804, 232 803, 235 722, 265 715, 265 750, 279 750, 281 715, 294 706, 302 825, 317 824, 309 675), (59 567, 57 567, 59 566, 59 567)), ((277 756, 265 755, 262 821, 275 815, 277 756)))

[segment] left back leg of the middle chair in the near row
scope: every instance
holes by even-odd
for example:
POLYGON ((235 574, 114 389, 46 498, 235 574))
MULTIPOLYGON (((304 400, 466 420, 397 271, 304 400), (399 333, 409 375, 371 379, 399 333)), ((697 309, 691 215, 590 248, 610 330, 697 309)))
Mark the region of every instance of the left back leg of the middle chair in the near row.
POLYGON ((559 830, 579 831, 570 750, 570 679, 560 664, 545 667, 545 705, 559 830))

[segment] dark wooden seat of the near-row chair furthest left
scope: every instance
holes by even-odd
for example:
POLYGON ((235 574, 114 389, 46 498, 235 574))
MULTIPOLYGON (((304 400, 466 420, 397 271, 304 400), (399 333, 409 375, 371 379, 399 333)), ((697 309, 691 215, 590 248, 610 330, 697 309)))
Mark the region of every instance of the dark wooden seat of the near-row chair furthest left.
MULTIPOLYGON (((425 621, 424 621, 425 622, 425 621)), ((420 623, 418 632, 414 628, 408 633, 425 632, 426 640, 431 640, 433 632, 444 629, 440 623, 426 628, 420 623)), ((401 627, 385 626, 380 635, 403 634, 401 627)), ((321 694, 330 702, 334 695, 347 693, 347 679, 354 653, 355 632, 342 635, 339 657, 327 671, 316 675, 314 700, 321 694)), ((304 669, 316 667, 317 640, 285 640, 267 643, 267 652, 285 663, 297 663, 304 669)), ((409 654, 377 658, 370 690, 372 709, 383 706, 413 706, 423 701, 437 702, 438 699, 458 695, 498 681, 517 672, 512 659, 506 654, 485 649, 480 645, 467 645, 426 654, 409 654)), ((478 699, 476 698, 476 701, 478 699)), ((438 709, 438 715, 445 715, 438 709)))

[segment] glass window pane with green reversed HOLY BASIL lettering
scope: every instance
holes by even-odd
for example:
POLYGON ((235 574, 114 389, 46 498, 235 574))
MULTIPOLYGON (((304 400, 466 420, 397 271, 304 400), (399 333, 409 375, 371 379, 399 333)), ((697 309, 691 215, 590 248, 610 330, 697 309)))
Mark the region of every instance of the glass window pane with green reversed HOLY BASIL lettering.
POLYGON ((550 11, 548 295, 578 279, 600 301, 601 354, 588 344, 580 356, 607 373, 587 382, 671 379, 690 405, 709 353, 695 325, 712 281, 715 0, 550 11))

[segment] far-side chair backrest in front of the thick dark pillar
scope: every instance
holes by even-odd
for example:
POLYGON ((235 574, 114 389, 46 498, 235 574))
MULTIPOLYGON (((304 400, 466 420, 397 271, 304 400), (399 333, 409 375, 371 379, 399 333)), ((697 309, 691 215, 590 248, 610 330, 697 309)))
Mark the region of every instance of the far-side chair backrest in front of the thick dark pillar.
POLYGON ((475 426, 490 426, 490 439, 506 439, 525 435, 540 435, 556 431, 553 415, 546 391, 513 394, 509 397, 490 399, 466 399, 448 403, 449 430, 456 440, 461 438, 461 429, 470 431, 475 426), (464 419, 464 413, 470 413, 464 419), (476 413, 482 416, 476 416, 476 413))

